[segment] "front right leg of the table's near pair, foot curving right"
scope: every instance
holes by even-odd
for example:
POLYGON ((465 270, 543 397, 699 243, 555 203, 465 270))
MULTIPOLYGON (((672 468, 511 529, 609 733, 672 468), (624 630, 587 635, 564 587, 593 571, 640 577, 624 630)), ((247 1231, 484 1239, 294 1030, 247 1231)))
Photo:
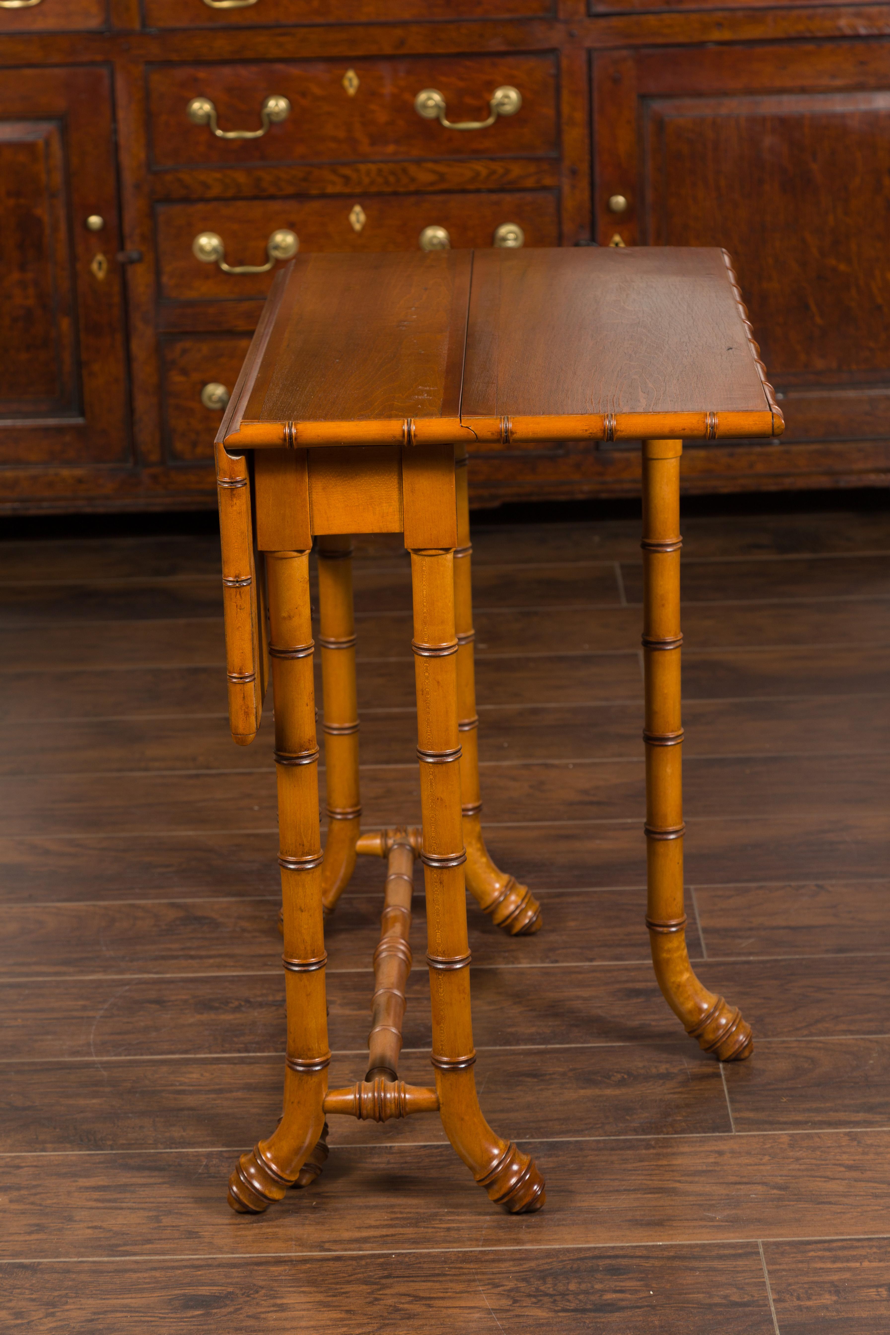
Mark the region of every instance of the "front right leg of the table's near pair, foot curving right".
POLYGON ((496 1136, 479 1108, 472 1067, 470 947, 460 817, 458 641, 450 550, 411 553, 418 758, 427 897, 432 1065, 448 1140, 491 1200, 539 1210, 544 1181, 528 1155, 496 1136))

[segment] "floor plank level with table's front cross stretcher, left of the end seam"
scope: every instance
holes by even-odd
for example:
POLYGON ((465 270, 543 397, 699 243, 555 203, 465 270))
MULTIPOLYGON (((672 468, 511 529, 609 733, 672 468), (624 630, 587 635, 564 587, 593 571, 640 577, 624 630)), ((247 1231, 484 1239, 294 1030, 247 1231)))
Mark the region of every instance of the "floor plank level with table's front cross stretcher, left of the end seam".
MULTIPOLYGON (((510 1135, 730 1135, 715 1061, 687 1043, 611 1048, 510 1048, 483 1053, 479 1097, 510 1135)), ((362 1080, 367 1048, 338 1053, 330 1087, 362 1080)), ((31 1063, 0 1068, 3 1153, 88 1153, 252 1144, 282 1111, 284 1055, 177 1061, 31 1063), (211 1095, 212 1091, 212 1095, 211 1095)), ((406 1052, 399 1076, 431 1081, 430 1055, 406 1052)), ((447 1144, 442 1121, 418 1116, 386 1127, 331 1119, 332 1145, 447 1144)))

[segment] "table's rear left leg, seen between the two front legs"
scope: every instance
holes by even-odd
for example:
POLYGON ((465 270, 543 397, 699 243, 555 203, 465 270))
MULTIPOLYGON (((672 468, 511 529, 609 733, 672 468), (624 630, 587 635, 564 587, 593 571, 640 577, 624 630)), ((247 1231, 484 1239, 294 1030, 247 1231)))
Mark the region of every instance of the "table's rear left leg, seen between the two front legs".
POLYGON ((362 817, 350 537, 319 538, 319 621, 328 816, 322 901, 327 914, 334 912, 355 870, 362 817))

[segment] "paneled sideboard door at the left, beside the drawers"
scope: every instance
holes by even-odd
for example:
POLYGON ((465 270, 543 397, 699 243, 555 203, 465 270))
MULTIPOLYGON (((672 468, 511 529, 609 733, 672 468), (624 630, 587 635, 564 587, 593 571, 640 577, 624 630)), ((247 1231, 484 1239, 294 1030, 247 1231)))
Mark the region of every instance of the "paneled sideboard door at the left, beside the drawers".
POLYGON ((5 499, 71 499, 129 462, 111 75, 0 79, 0 467, 5 499), (56 482, 47 466, 64 465, 56 482), (57 483, 57 485, 56 485, 57 483), (88 485, 88 482, 87 482, 88 485))

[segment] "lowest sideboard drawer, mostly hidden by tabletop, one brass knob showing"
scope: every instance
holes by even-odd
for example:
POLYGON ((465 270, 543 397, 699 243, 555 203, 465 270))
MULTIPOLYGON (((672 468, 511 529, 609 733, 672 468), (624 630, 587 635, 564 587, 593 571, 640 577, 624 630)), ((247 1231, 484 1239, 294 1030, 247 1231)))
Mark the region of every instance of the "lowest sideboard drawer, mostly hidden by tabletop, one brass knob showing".
POLYGON ((169 463, 208 462, 250 335, 172 338, 160 346, 164 453, 169 463))

